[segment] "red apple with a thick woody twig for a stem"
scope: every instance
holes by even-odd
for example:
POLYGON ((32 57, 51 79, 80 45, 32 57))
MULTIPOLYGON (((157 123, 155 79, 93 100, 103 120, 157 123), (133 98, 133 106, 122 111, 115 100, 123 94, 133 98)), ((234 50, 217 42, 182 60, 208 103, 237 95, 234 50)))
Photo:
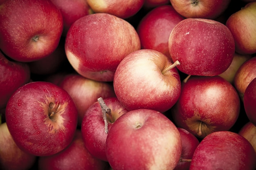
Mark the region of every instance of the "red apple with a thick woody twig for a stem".
MULTIPOLYGON (((118 101, 116 97, 103 98, 106 105, 110 108, 112 120, 107 116, 108 130, 113 123, 128 110, 118 101)), ((106 139, 108 134, 104 130, 104 121, 99 102, 92 104, 85 112, 81 126, 85 147, 96 158, 108 161, 106 156, 106 139)))

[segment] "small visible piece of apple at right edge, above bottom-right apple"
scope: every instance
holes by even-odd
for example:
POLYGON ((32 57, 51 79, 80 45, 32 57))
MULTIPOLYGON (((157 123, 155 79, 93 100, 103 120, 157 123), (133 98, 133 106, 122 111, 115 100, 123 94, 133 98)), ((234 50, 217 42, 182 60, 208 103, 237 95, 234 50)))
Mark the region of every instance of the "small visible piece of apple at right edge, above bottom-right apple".
POLYGON ((245 137, 252 144, 256 152, 256 126, 249 121, 243 125, 238 134, 245 137))

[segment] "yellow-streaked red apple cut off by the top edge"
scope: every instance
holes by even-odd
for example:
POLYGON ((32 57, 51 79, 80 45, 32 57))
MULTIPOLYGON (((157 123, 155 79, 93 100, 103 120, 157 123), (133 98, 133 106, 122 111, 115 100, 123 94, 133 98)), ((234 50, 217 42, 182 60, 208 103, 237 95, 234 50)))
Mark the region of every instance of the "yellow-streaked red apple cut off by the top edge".
POLYGON ((144 5, 144 0, 87 0, 95 13, 109 13, 119 18, 135 15, 144 5))

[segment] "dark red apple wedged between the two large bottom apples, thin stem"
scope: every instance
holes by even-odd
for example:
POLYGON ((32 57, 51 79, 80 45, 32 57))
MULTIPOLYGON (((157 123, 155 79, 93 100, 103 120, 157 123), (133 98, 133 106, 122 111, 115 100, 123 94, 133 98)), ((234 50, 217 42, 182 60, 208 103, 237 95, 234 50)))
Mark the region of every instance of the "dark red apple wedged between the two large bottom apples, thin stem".
POLYGON ((181 161, 181 159, 192 159, 195 149, 199 145, 198 139, 189 131, 183 128, 177 128, 180 132, 180 137, 182 141, 182 152, 180 161, 174 170, 189 170, 190 162, 181 161))

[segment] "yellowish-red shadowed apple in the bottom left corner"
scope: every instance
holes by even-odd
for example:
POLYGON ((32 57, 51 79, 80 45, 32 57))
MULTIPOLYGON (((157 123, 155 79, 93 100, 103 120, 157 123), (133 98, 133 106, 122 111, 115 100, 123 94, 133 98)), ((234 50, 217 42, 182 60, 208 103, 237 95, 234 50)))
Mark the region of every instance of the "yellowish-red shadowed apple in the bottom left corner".
POLYGON ((6 123, 0 124, 0 169, 28 170, 36 162, 36 156, 28 154, 16 145, 6 123))

